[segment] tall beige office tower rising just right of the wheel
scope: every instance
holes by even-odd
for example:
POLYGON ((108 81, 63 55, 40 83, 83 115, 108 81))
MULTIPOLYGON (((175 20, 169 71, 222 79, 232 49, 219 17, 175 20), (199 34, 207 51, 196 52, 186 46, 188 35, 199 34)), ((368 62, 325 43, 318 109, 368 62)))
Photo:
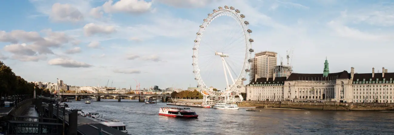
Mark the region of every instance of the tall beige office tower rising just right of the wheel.
POLYGON ((255 77, 273 77, 274 67, 277 66, 277 54, 272 51, 263 51, 255 54, 251 63, 250 80, 255 77))

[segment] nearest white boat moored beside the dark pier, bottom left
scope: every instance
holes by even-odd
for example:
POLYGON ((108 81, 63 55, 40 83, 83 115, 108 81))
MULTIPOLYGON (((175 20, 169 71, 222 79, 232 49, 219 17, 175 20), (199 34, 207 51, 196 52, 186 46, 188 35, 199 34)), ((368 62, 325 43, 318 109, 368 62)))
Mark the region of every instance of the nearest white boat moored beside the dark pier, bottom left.
POLYGON ((123 124, 121 120, 112 120, 112 119, 106 119, 100 116, 99 113, 88 113, 86 118, 100 122, 103 125, 109 126, 111 128, 115 128, 117 130, 120 130, 122 132, 127 133, 128 131, 126 130, 126 125, 123 124))

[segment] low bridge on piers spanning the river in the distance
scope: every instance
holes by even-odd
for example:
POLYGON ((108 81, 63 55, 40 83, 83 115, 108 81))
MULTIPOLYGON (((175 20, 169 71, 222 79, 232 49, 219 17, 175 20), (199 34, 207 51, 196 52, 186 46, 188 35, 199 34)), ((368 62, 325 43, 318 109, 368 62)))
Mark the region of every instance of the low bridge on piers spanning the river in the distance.
MULTIPOLYGON (((126 93, 59 93, 60 96, 75 96, 75 100, 81 100, 82 96, 94 96, 96 97, 96 101, 100 101, 102 96, 112 96, 117 97, 118 102, 121 102, 121 97, 139 97, 139 102, 145 102, 145 97, 161 97, 162 102, 166 102, 168 97, 171 97, 170 94, 126 94, 126 93)), ((50 97, 40 97, 47 100, 60 100, 60 98, 50 98, 50 97)))

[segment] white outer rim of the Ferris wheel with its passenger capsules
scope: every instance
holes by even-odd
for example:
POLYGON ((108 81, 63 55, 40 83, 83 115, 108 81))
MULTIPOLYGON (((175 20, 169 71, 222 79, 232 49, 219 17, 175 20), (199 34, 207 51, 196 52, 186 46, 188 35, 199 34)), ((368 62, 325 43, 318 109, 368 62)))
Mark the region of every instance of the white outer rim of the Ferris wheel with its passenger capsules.
MULTIPOLYGON (((231 86, 229 87, 229 89, 226 89, 223 92, 217 92, 217 91, 212 91, 208 88, 208 86, 206 86, 205 82, 203 81, 203 79, 201 78, 200 75, 200 69, 199 69, 199 62, 198 62, 198 52, 199 52, 199 46, 200 46, 200 41, 201 41, 201 37, 203 37, 204 31, 206 30, 206 28, 209 26, 209 24, 216 18, 220 17, 220 16, 230 16, 231 18, 233 18, 234 20, 237 21, 237 23, 239 24, 240 27, 242 27, 242 33, 243 33, 243 37, 245 38, 245 58, 243 60, 243 67, 240 71, 240 73, 237 75, 236 77, 236 82, 239 82, 240 79, 242 81, 243 78, 246 77, 247 71, 245 71, 246 69, 249 69, 250 66, 250 58, 251 58, 251 52, 250 51, 252 45, 251 42, 253 42, 253 39, 251 39, 251 32, 248 32, 250 29, 247 29, 247 24, 249 24, 249 22, 246 24, 247 21, 244 21, 243 18, 245 17, 243 14, 238 14, 240 13, 240 11, 238 9, 235 9, 234 7, 230 7, 230 9, 228 8, 228 6, 225 6, 225 8, 221 8, 219 7, 219 10, 214 9, 214 12, 212 14, 208 14, 208 17, 204 19, 203 24, 201 24, 199 31, 196 33, 197 36, 195 38, 195 44, 193 47, 193 73, 195 74, 195 80, 197 80, 198 82, 198 86, 202 87, 202 89, 200 89, 201 93, 205 96, 213 96, 213 97, 223 97, 223 95, 226 94, 230 94, 234 91, 232 91, 232 89, 234 89, 234 87, 238 88, 239 85, 237 85, 235 82, 233 84, 231 84, 231 86), (230 13, 230 15, 226 15, 225 13, 230 13), (249 39, 249 41, 248 41, 249 39), (250 41, 252 40, 252 41, 250 41), (249 50, 249 51, 248 51, 249 50), (208 93, 206 93, 208 92, 208 93)), ((252 49, 253 50, 253 49, 252 49)), ((236 89, 235 88, 235 89, 236 89)))

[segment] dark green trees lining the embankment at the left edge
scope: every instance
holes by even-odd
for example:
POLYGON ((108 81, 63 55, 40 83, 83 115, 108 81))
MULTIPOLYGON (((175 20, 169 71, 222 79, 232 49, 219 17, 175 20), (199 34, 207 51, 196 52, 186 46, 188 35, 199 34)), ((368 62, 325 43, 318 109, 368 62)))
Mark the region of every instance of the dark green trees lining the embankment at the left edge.
POLYGON ((37 95, 43 93, 34 83, 27 82, 22 77, 15 75, 11 67, 0 61, 0 93, 2 96, 11 95, 33 95, 34 90, 37 95))

